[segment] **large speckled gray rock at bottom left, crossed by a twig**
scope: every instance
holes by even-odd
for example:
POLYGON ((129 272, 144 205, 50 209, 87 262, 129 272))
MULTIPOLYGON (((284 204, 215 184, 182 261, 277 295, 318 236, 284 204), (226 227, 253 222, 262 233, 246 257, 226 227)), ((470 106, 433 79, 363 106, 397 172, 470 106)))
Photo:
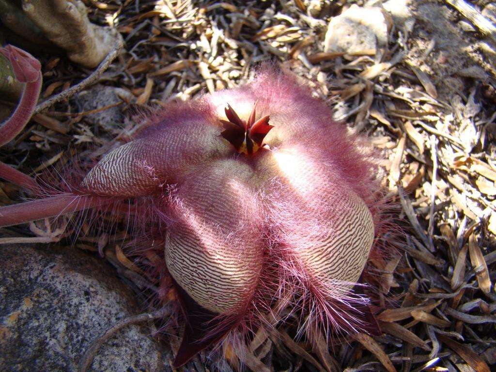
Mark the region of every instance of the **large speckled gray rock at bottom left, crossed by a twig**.
MULTIPOLYGON (((0 371, 76 371, 91 342, 139 313, 111 266, 75 248, 0 246, 0 371)), ((171 371, 145 325, 123 328, 89 371, 171 371)))

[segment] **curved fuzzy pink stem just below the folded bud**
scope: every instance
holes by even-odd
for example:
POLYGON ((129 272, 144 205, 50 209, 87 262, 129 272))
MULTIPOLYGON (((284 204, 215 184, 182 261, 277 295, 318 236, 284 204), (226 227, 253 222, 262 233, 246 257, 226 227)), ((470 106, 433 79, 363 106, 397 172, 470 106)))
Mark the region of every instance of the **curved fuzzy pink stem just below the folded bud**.
POLYGON ((21 100, 15 111, 0 126, 0 146, 10 142, 29 122, 41 91, 41 71, 36 81, 25 83, 21 100))

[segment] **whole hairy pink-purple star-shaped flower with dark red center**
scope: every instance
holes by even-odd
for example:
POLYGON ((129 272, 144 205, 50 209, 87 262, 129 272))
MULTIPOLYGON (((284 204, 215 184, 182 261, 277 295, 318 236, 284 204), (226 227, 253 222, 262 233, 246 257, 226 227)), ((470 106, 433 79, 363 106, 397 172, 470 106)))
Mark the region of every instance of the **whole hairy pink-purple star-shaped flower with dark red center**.
POLYGON ((354 292, 382 218, 372 155, 331 118, 265 67, 157 112, 84 178, 90 194, 145 200, 161 226, 189 324, 176 366, 229 331, 267 326, 275 304, 298 309, 309 337, 377 327, 354 292))

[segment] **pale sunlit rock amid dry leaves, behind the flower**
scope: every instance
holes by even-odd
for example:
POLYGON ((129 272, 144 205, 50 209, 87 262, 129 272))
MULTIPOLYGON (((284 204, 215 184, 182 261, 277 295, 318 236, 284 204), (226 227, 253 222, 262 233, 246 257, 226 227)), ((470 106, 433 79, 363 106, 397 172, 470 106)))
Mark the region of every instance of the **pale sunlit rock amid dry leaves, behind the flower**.
POLYGON ((353 4, 329 22, 324 52, 376 53, 377 48, 387 44, 390 27, 391 20, 385 10, 353 4))

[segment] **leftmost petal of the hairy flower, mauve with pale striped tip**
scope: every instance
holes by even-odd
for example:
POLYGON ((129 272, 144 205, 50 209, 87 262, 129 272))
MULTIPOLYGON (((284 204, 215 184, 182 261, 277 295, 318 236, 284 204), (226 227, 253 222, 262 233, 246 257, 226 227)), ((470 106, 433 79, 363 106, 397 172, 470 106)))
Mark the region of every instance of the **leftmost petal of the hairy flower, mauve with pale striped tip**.
POLYGON ((218 120, 208 104, 200 100, 194 107, 171 106, 167 116, 151 118, 153 124, 134 141, 108 153, 82 186, 100 195, 146 195, 176 183, 202 161, 234 153, 219 136, 218 120))

